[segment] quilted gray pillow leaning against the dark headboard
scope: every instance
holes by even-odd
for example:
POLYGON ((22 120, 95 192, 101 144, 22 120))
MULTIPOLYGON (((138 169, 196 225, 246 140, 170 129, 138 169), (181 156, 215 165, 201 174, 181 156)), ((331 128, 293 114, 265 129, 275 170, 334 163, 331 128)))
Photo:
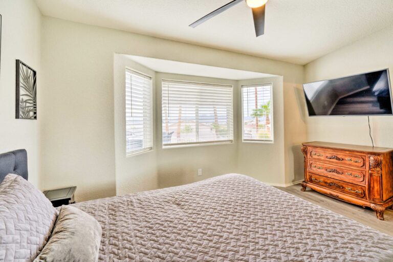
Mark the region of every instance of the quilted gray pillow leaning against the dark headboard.
POLYGON ((56 217, 41 191, 7 174, 0 183, 0 261, 33 260, 47 243, 56 217))

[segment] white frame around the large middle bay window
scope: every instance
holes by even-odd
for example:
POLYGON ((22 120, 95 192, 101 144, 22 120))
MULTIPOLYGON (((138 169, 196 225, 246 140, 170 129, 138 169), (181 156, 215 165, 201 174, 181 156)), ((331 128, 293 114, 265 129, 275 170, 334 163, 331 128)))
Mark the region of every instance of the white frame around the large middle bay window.
POLYGON ((165 144, 163 142, 163 139, 161 137, 161 146, 163 149, 169 149, 169 148, 181 148, 181 147, 195 147, 195 146, 209 146, 209 145, 223 145, 223 144, 233 144, 234 143, 234 132, 235 132, 235 122, 234 122, 234 86, 233 84, 221 84, 221 83, 208 83, 208 82, 199 82, 199 81, 188 81, 188 80, 177 80, 177 79, 167 79, 163 78, 161 79, 161 134, 164 129, 164 122, 163 122, 163 83, 164 82, 181 82, 185 84, 194 84, 194 85, 209 85, 209 86, 219 86, 219 87, 225 87, 228 89, 231 89, 231 111, 232 111, 232 117, 228 118, 232 121, 232 130, 231 130, 231 135, 232 139, 229 140, 217 140, 217 141, 205 141, 205 142, 188 142, 188 143, 173 143, 173 144, 165 144))

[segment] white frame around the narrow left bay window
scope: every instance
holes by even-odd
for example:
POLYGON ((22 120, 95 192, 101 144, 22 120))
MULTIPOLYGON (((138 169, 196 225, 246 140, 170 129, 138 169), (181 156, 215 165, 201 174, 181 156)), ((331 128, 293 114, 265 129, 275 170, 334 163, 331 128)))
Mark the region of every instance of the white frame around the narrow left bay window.
MULTIPOLYGON (((132 89, 132 85, 131 85, 131 89, 132 89)), ((155 132, 155 127, 154 127, 154 78, 146 73, 143 73, 141 71, 135 70, 133 68, 130 67, 125 67, 125 71, 124 71, 124 129, 125 129, 125 156, 126 158, 128 157, 133 157, 136 155, 140 155, 143 154, 145 152, 149 152, 149 151, 153 151, 154 147, 155 147, 155 143, 154 143, 154 132, 155 132), (145 147, 142 149, 137 149, 134 151, 130 151, 127 152, 127 113, 126 113, 126 104, 125 104, 125 100, 126 100, 126 80, 127 80, 127 71, 131 74, 136 74, 136 75, 141 75, 142 77, 147 77, 150 78, 150 128, 151 128, 151 146, 150 147, 145 147)))

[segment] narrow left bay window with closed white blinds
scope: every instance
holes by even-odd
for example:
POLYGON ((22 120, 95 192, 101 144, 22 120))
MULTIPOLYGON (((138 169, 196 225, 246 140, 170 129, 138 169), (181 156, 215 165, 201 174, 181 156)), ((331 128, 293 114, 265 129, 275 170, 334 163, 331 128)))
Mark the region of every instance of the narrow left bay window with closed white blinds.
POLYGON ((125 72, 126 154, 151 150, 152 81, 132 70, 125 72))

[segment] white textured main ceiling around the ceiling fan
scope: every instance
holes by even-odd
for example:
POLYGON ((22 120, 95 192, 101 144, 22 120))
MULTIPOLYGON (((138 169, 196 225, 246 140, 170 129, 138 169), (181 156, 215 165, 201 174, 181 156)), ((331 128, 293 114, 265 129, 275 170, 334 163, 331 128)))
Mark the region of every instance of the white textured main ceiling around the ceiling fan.
POLYGON ((43 15, 305 64, 393 24, 393 0, 269 0, 255 37, 240 3, 197 28, 231 0, 36 0, 43 15))

